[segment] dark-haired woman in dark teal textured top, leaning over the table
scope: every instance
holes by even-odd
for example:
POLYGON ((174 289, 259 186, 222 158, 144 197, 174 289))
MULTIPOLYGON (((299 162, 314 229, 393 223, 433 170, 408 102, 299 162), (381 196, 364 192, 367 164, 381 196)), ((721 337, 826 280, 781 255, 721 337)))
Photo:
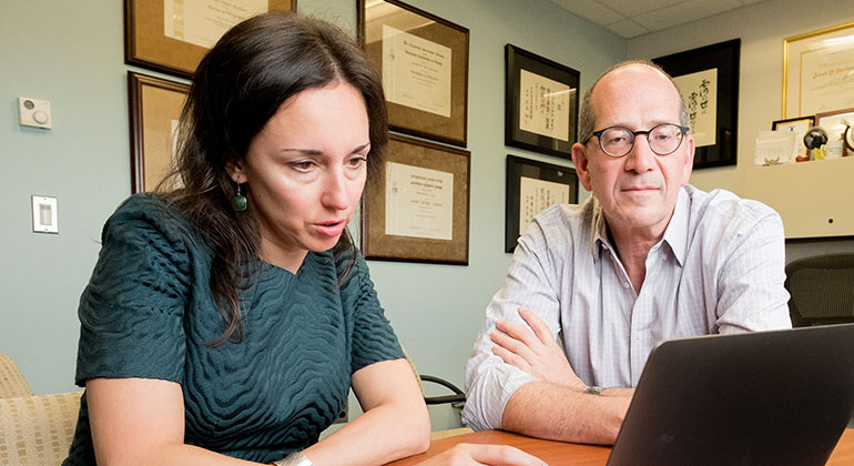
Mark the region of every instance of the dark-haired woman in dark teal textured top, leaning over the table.
MULTIPOLYGON (((377 75, 337 28, 272 12, 217 42, 182 115, 180 188, 132 196, 104 226, 64 465, 375 465, 427 447, 346 232, 386 125, 377 75), (350 387, 365 414, 318 442, 350 387)), ((479 446, 428 463, 478 456, 541 464, 479 446)))

